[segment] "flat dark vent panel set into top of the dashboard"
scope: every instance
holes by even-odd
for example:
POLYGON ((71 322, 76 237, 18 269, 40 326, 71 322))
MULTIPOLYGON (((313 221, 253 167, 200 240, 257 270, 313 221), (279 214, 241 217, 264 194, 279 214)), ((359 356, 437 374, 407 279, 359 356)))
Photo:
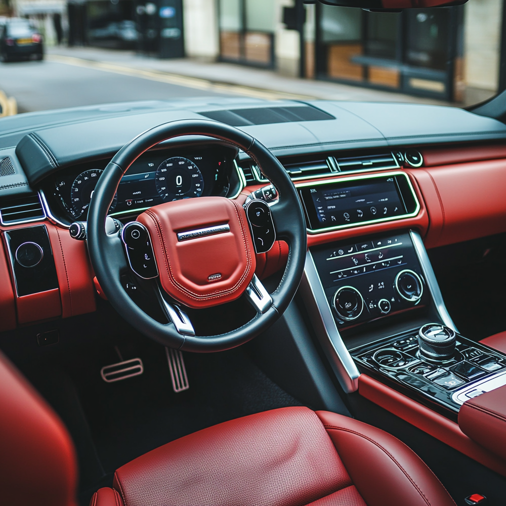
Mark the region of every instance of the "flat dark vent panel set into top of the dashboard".
POLYGON ((335 119, 331 114, 309 105, 295 107, 251 107, 249 109, 207 111, 200 112, 199 114, 231 126, 335 119))

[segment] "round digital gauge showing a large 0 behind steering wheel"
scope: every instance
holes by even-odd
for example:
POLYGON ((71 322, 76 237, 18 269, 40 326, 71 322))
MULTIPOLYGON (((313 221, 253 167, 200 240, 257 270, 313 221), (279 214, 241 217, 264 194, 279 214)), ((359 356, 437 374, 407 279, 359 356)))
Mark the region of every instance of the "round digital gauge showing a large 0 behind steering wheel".
POLYGON ((175 156, 161 162, 155 175, 156 190, 164 202, 200 197, 204 178, 188 158, 175 156))

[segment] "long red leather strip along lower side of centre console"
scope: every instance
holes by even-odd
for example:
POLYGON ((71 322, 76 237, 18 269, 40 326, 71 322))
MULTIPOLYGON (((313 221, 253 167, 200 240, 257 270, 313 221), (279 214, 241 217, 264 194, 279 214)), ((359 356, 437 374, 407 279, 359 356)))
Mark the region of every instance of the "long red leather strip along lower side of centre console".
POLYGON ((458 425, 432 409, 361 374, 358 392, 362 397, 395 414, 418 429, 439 439, 461 453, 480 462, 496 473, 506 476, 506 461, 466 436, 458 425))

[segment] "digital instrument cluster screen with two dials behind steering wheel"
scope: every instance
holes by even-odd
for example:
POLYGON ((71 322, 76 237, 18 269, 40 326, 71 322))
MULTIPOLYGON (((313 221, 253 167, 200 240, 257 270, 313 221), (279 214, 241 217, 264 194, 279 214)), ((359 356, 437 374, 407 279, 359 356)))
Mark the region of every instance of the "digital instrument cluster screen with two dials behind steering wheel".
MULTIPOLYGON (((225 146, 150 150, 126 171, 109 214, 128 216, 171 200, 230 196, 238 186, 236 153, 225 146)), ((108 161, 79 164, 53 174, 43 185, 53 213, 66 222, 85 221, 108 161)))

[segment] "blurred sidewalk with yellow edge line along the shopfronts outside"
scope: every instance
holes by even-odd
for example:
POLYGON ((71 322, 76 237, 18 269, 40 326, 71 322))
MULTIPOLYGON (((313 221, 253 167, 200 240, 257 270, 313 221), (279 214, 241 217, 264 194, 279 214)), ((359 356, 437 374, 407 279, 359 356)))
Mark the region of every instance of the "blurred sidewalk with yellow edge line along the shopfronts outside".
POLYGON ((190 88, 266 99, 323 99, 452 105, 401 93, 370 90, 321 80, 282 76, 272 70, 231 63, 203 63, 189 58, 159 60, 133 51, 99 48, 47 48, 47 59, 69 65, 136 75, 190 88))

